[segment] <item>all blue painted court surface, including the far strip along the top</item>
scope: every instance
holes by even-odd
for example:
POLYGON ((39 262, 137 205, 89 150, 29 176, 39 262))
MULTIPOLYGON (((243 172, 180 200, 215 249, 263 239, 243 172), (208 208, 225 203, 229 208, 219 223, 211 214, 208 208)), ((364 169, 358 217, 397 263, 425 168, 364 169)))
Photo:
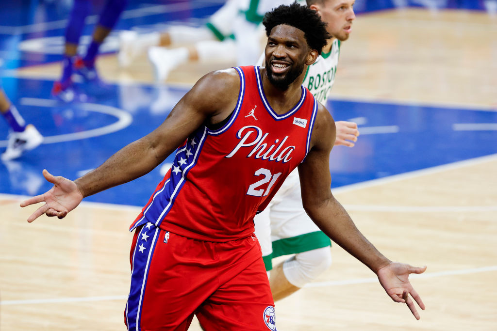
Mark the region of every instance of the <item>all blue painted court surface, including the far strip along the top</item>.
MULTIPOLYGON (((158 127, 186 89, 152 85, 85 86, 85 104, 58 103, 50 98, 53 81, 15 78, 4 74, 23 66, 61 60, 63 35, 71 2, 2 1, 0 10, 1 85, 29 123, 45 136, 45 143, 21 158, 0 163, 0 193, 36 195, 50 185, 41 172, 76 179, 100 165, 127 143, 158 127)), ((83 52, 103 0, 94 0, 83 31, 83 52), (86 36, 86 37, 85 37, 86 36)), ((418 6, 423 1, 357 0, 357 13, 390 9, 396 3, 418 6)), ((489 10, 492 1, 424 1, 439 7, 489 10)), ((130 0, 102 52, 116 51, 118 30, 164 29, 174 24, 199 26, 222 0, 130 0)), ((492 2, 493 3, 493 2, 492 2)), ((339 187, 401 174, 459 160, 497 153, 497 113, 433 108, 417 105, 333 101, 335 120, 360 124, 354 148, 335 147, 331 153, 332 186, 339 187)), ((0 150, 6 145, 7 126, 0 121, 0 150)), ((88 201, 143 205, 168 169, 150 174, 88 201)), ((228 185, 228 184, 227 184, 228 185)))

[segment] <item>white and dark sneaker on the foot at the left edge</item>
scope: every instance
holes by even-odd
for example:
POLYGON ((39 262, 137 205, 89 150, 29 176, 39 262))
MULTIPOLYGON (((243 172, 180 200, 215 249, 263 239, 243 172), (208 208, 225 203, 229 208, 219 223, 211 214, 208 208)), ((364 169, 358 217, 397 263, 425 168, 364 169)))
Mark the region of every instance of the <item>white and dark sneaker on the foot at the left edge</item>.
POLYGON ((32 124, 28 124, 23 132, 10 132, 7 149, 1 154, 2 161, 18 158, 25 150, 38 147, 43 136, 32 124))

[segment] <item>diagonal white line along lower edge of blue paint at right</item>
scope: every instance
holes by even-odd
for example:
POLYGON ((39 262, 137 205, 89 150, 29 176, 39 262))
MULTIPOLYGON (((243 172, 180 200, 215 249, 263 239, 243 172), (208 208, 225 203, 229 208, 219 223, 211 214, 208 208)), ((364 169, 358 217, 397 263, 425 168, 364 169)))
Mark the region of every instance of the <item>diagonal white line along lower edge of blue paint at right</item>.
POLYGON ((414 170, 411 172, 405 172, 405 173, 402 173, 399 175, 392 175, 392 176, 388 176, 388 177, 372 179, 370 181, 365 181, 365 182, 361 182, 361 183, 357 183, 357 184, 350 184, 350 185, 340 186, 337 188, 331 188, 331 191, 333 193, 350 192, 350 191, 355 191, 355 190, 359 190, 359 189, 375 187, 375 186, 379 186, 379 185, 383 185, 383 184, 399 182, 402 180, 412 179, 412 178, 421 177, 421 176, 425 176, 425 175, 437 174, 437 173, 447 171, 447 170, 454 170, 454 169, 469 167, 469 166, 473 166, 473 165, 477 165, 477 164, 481 164, 481 163, 485 163, 485 162, 489 162, 489 161, 495 161, 495 160, 497 160, 497 154, 480 156, 480 157, 476 157, 473 159, 443 164, 443 165, 425 168, 425 169, 421 169, 421 170, 414 170))

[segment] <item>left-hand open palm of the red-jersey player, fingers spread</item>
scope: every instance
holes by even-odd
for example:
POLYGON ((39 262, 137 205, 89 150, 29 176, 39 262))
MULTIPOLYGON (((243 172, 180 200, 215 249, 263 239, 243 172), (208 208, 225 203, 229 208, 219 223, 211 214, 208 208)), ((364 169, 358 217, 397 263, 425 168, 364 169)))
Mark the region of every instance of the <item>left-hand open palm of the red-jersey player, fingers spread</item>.
POLYGON ((46 214, 47 216, 57 216, 64 218, 83 200, 83 194, 78 189, 75 182, 62 176, 53 176, 47 170, 43 170, 45 179, 54 184, 54 187, 42 195, 27 199, 20 203, 21 207, 45 201, 45 204, 39 207, 31 216, 28 217, 28 222, 34 221, 39 216, 46 214))

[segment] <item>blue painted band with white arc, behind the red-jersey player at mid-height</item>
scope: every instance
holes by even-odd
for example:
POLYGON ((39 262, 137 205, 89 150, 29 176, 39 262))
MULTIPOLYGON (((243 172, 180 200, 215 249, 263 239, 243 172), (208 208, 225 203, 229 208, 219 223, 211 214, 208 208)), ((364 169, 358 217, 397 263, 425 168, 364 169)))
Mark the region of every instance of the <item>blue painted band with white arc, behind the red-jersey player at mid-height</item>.
MULTIPOLYGON (((50 189, 43 169, 76 179, 124 145, 154 130, 186 89, 110 85, 90 103, 58 103, 47 97, 52 82, 4 78, 12 101, 46 137, 21 158, 0 163, 0 192, 36 195, 50 189), (169 103, 155 104, 159 98, 169 103)), ((354 120, 362 134, 356 146, 331 152, 332 186, 358 183, 497 153, 497 112, 416 105, 333 101, 335 120, 354 120), (493 129, 492 129, 493 128, 493 129)), ((7 126, 0 122, 0 132, 7 126)), ((0 141, 0 148, 6 144, 0 141)), ((131 183, 87 201, 143 205, 171 162, 131 183)), ((228 184, 227 184, 228 185, 228 184)))

